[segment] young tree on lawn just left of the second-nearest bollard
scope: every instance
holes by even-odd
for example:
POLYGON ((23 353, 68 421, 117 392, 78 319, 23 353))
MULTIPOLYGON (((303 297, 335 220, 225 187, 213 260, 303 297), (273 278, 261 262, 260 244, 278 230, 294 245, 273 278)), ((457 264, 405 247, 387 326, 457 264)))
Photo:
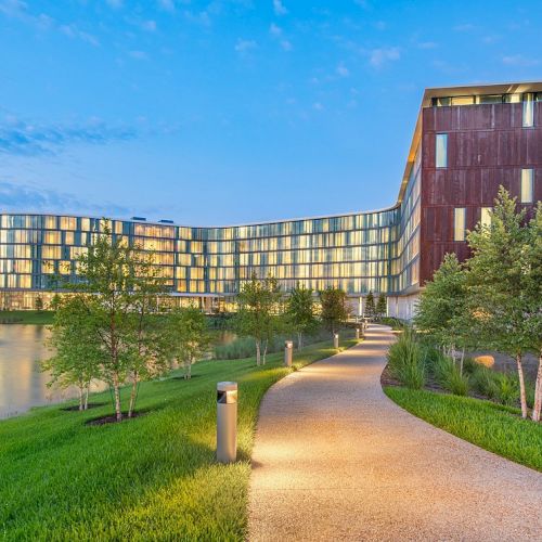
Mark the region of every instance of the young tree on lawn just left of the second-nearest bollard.
POLYGON ((282 294, 276 279, 259 280, 253 273, 237 295, 235 327, 242 336, 253 337, 256 343, 256 364, 266 363, 269 340, 280 327, 282 294), (263 360, 261 350, 263 346, 263 360))

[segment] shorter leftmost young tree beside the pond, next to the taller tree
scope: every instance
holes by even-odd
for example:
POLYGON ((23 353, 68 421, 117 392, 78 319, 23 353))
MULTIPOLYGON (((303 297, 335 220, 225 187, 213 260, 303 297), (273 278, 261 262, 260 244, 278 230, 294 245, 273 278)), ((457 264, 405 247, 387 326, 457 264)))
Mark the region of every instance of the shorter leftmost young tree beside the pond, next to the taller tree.
POLYGON ((55 353, 41 363, 42 371, 51 373, 48 386, 76 386, 79 410, 87 410, 90 384, 100 375, 103 351, 94 340, 93 322, 80 297, 59 304, 51 332, 49 346, 55 353))

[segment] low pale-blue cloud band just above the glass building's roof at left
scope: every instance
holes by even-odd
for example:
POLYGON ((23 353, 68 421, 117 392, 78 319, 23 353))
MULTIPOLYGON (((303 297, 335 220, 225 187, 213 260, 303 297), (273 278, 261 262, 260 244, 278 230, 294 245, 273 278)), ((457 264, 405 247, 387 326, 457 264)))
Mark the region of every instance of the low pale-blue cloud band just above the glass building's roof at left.
POLYGON ((130 216, 129 208, 111 203, 92 203, 74 194, 31 184, 0 180, 2 209, 25 212, 70 212, 96 216, 130 216))

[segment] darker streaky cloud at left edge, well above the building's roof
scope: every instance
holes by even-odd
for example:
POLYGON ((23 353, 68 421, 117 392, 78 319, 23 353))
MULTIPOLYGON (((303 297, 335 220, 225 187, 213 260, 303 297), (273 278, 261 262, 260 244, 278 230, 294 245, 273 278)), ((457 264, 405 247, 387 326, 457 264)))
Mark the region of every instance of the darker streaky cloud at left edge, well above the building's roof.
POLYGON ((0 125, 0 154, 56 155, 70 144, 106 144, 138 137, 129 127, 113 127, 101 121, 78 126, 43 126, 11 119, 0 125))

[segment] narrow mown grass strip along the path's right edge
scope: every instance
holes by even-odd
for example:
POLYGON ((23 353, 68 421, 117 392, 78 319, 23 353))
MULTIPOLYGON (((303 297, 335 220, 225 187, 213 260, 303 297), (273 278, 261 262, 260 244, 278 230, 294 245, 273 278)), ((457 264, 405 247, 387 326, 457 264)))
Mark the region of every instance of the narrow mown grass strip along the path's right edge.
POLYGON ((386 387, 386 395, 415 416, 456 437, 542 472, 542 424, 491 401, 386 387))

